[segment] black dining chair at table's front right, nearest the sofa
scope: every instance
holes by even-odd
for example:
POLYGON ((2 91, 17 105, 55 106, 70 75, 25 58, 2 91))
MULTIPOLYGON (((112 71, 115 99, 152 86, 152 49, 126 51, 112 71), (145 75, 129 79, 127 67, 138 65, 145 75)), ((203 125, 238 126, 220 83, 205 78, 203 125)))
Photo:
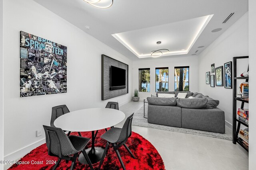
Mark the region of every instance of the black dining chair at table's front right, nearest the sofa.
POLYGON ((98 167, 98 170, 100 170, 100 167, 103 163, 103 160, 106 156, 109 144, 112 143, 112 146, 114 148, 114 151, 116 152, 116 155, 120 161, 120 164, 122 166, 122 168, 124 170, 126 170, 125 166, 124 166, 124 162, 122 161, 122 158, 120 156, 120 153, 118 151, 118 148, 121 147, 122 145, 124 145, 124 147, 126 148, 126 150, 128 150, 128 152, 130 153, 130 155, 132 156, 132 158, 135 159, 135 156, 132 154, 131 150, 127 147, 127 145, 125 144, 126 141, 128 140, 128 137, 130 137, 132 135, 132 118, 133 118, 134 113, 132 113, 132 115, 130 115, 129 117, 127 117, 124 126, 122 128, 118 128, 118 127, 112 127, 111 129, 109 129, 106 133, 104 133, 101 138, 105 139, 107 141, 106 143, 106 147, 105 150, 103 152, 102 158, 100 160, 100 165, 98 167))

